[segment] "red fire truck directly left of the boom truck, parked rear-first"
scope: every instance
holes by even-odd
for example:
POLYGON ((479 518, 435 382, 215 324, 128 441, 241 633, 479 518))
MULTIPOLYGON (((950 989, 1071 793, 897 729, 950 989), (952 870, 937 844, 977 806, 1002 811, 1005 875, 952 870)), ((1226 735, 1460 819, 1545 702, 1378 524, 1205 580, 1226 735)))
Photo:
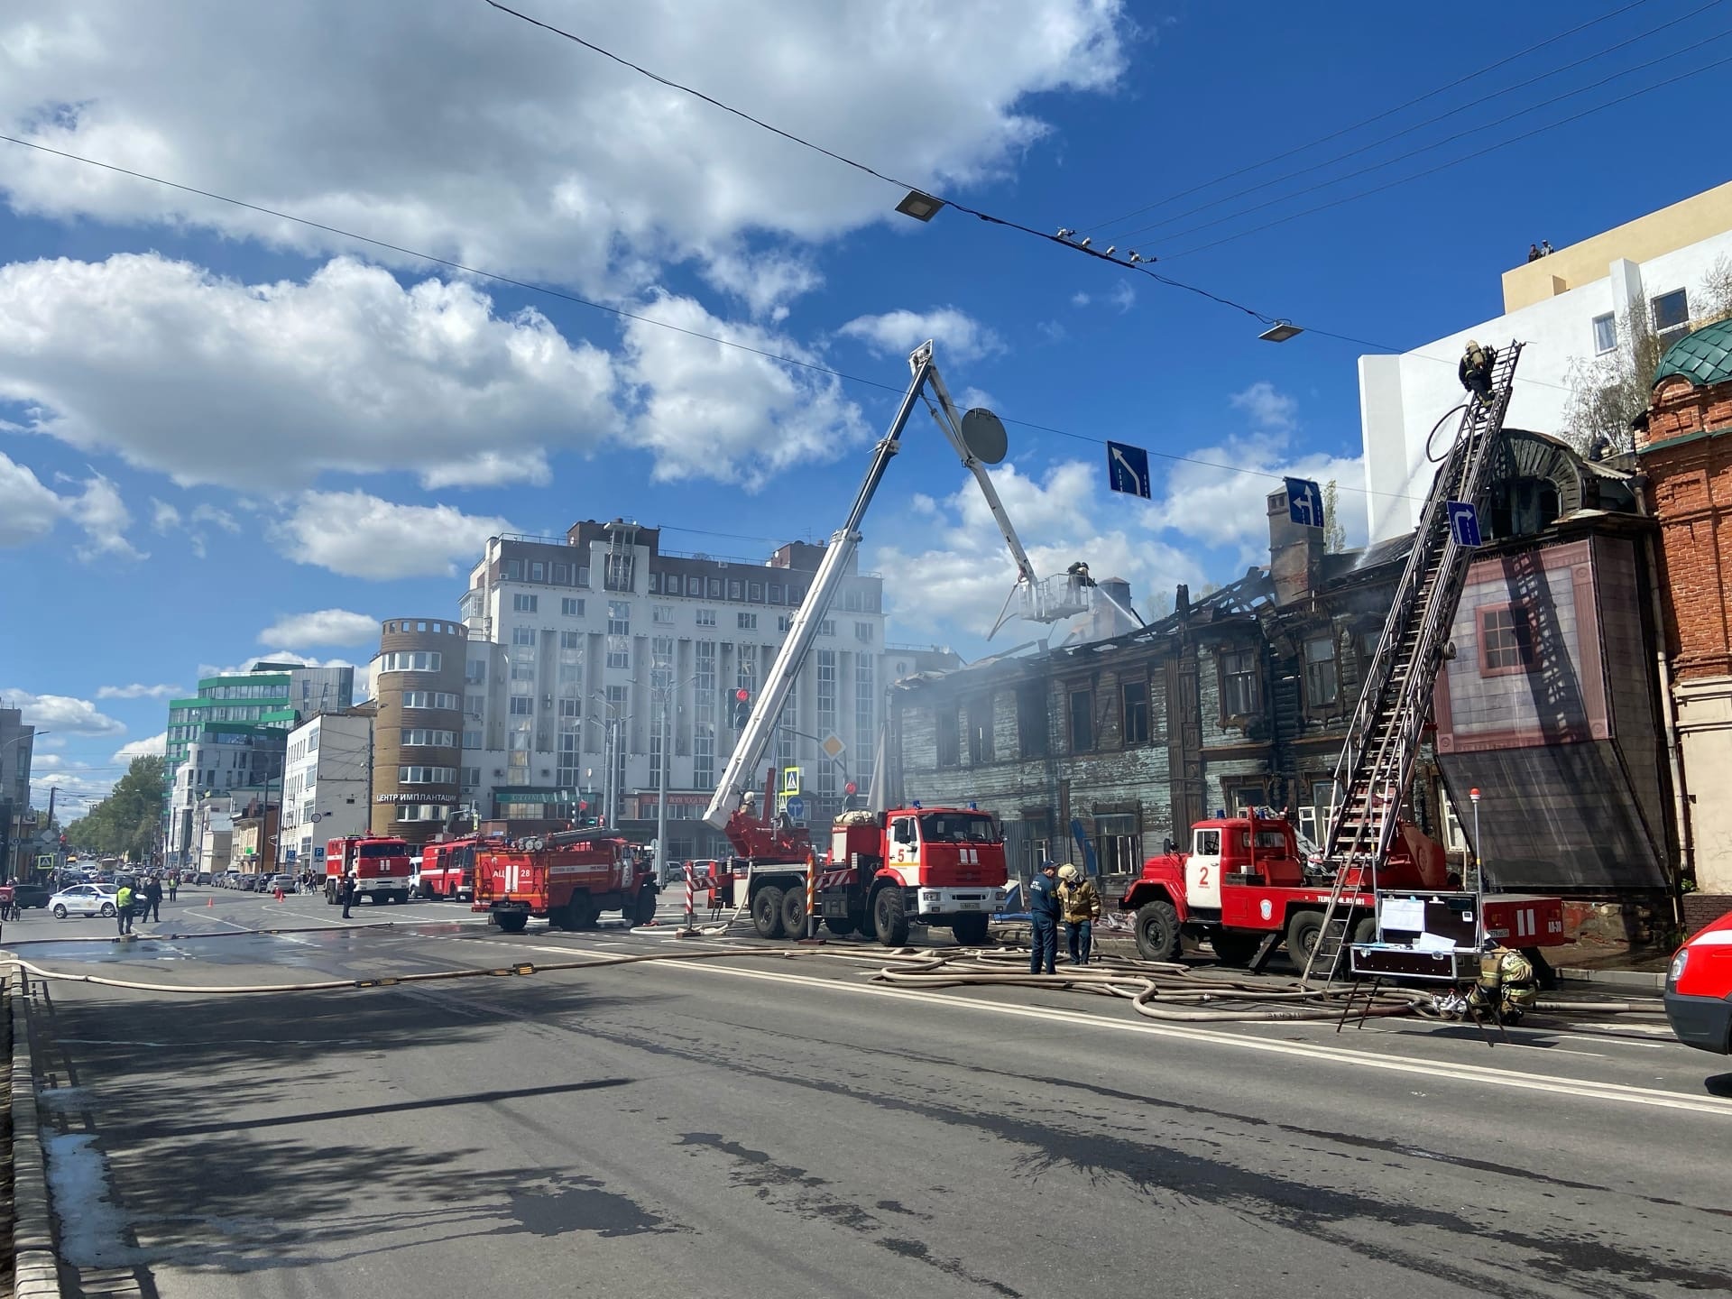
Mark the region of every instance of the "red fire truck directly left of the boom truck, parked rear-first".
POLYGON ((563 930, 596 928, 603 911, 618 911, 630 928, 655 920, 655 868, 644 850, 606 830, 476 849, 471 911, 485 911, 506 934, 521 934, 530 916, 563 930))

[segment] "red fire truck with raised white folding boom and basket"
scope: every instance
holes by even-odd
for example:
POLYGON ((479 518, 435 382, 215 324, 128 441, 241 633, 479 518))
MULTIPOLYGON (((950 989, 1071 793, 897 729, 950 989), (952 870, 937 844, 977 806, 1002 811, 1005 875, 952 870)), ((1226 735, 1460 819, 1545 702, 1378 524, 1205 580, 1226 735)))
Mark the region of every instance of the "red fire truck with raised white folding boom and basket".
MULTIPOLYGON (((909 369, 913 381, 902 395, 890 431, 873 449, 847 521, 830 537, 812 585, 793 615, 788 637, 759 689, 715 786, 715 797, 705 811, 705 821, 727 835, 745 863, 743 901, 752 913, 753 928, 766 939, 802 937, 821 916, 831 934, 863 934, 892 947, 902 946, 914 925, 949 927, 958 940, 973 944, 986 939, 989 916, 1005 904, 1005 837, 991 812, 972 805, 920 804, 885 809, 880 802, 885 790, 875 779, 871 800, 876 805, 837 818, 828 852, 819 852, 805 826, 774 818, 772 771, 762 805, 755 805, 757 793, 752 788, 753 772, 769 750, 788 693, 859 547, 866 509, 892 457, 901 450, 902 430, 918 404, 925 402, 963 466, 975 476, 1017 563, 1017 582, 992 630, 1005 624, 1013 604, 1025 618, 1053 624, 1086 613, 1096 594, 1110 599, 1089 584, 1081 565, 1070 573, 1044 580, 1036 575, 986 471, 986 466, 1005 459, 1003 423, 984 409, 958 414, 932 360, 930 341, 909 355, 909 369), (812 914, 807 911, 809 871, 818 875, 812 914)), ((740 871, 734 875, 738 878, 740 871)))

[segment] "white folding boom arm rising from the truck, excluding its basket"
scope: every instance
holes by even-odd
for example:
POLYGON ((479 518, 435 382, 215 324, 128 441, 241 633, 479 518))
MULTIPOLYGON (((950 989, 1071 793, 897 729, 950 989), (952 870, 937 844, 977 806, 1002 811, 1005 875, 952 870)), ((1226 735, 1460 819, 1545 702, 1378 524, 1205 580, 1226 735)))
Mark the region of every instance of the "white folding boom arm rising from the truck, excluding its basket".
MULTIPOLYGON (((752 705, 752 715, 740 731, 740 741, 734 745, 734 752, 727 759, 727 767, 722 771, 722 778, 715 786, 715 795, 710 798, 710 805, 703 812, 703 819, 717 830, 727 828, 727 818, 740 805, 740 797, 755 785, 752 772, 757 769, 764 752, 769 748, 771 734, 776 729, 776 719, 781 717, 781 708, 788 701, 788 691, 793 689, 795 677, 798 677, 800 669, 805 665, 805 658, 812 650, 812 641, 818 639, 818 630, 823 627, 824 615, 830 613, 837 591, 842 587, 842 578, 849 570, 849 561, 854 558, 856 549, 859 549, 861 520, 866 518, 866 509, 871 506, 873 495, 878 492, 878 483, 883 481, 885 469, 890 468, 890 459, 902 449, 902 430, 908 428, 908 419, 914 412, 914 404, 927 395, 928 386, 939 398, 937 407, 932 407, 930 397, 927 398, 928 409, 932 409, 932 417, 937 421, 939 428, 944 430, 944 436, 961 457, 963 466, 975 476, 975 481, 980 483, 980 490, 986 494, 992 518, 998 521, 998 528, 1005 535, 1005 544, 1010 547, 1011 558, 1017 561, 1017 585, 1022 587, 1027 584, 1029 591, 1039 589, 1034 577, 1034 565, 1029 563, 1029 556, 1022 549, 1022 542, 1017 539, 1017 530, 1010 525, 1010 516, 1005 513, 1005 506, 998 499, 998 492, 992 488, 992 480, 986 473, 986 462, 996 464, 998 459, 1003 457, 1003 426, 994 416, 986 412, 982 412, 984 417, 979 424, 972 424, 966 417, 960 417, 956 414, 949 390, 944 386, 944 379, 939 378, 939 369, 932 360, 930 339, 909 355, 908 365, 914 378, 908 385, 908 391, 902 395, 902 404, 897 407, 895 419, 890 421, 890 431, 883 435, 876 447, 873 447, 871 464, 866 468, 866 478, 861 480, 859 492, 854 495, 849 516, 842 527, 830 535, 830 544, 824 547, 824 558, 818 565, 812 585, 805 592, 805 599, 800 603, 800 608, 793 615, 793 622, 788 627, 788 639, 781 643, 781 650, 776 653, 776 662, 771 665, 769 675, 764 679, 757 700, 752 705), (977 436, 973 445, 970 443, 970 435, 977 436)), ((762 809, 762 814, 769 816, 769 809, 762 809)))

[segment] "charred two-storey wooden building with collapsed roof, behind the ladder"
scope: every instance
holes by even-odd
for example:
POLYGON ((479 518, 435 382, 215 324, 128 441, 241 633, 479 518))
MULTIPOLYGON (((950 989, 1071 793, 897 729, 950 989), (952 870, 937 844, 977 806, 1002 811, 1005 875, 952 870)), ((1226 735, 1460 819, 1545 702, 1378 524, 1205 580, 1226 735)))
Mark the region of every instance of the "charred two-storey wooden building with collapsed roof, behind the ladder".
MULTIPOLYGON (((1510 868, 1500 885, 1659 887, 1664 760, 1652 672, 1637 662, 1654 636, 1652 525, 1626 475, 1521 431, 1505 435, 1491 514, 1500 540, 1474 565, 1439 681, 1448 726, 1422 755, 1408 816, 1465 857, 1470 826, 1453 807, 1477 781, 1498 790, 1481 826, 1488 863, 1510 868), (1561 568, 1567 592, 1536 577, 1561 568), (1510 653, 1505 627, 1517 627, 1510 653), (1496 729, 1484 719, 1498 710, 1521 721, 1496 729), (1529 748, 1541 752, 1512 757, 1529 748)), ((892 795, 998 812, 1024 876, 1084 843, 1103 873, 1134 871, 1218 809, 1285 809, 1320 840, 1410 539, 1327 554, 1322 528, 1290 521, 1285 492, 1270 494, 1268 518, 1268 568, 1197 598, 1179 587, 1159 622, 897 682, 892 795)))

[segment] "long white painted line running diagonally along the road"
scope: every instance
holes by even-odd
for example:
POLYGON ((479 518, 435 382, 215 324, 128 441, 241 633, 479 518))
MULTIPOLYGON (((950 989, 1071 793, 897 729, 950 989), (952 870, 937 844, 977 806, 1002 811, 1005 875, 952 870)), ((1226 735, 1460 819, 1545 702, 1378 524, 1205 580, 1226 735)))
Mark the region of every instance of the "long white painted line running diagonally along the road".
POLYGON ((973 998, 939 996, 934 992, 916 992, 901 987, 843 984, 812 975, 774 973, 769 970, 740 970, 727 965, 674 965, 670 970, 681 973, 719 973, 733 979, 759 979, 772 984, 793 984, 798 987, 818 987, 837 992, 854 992, 864 996, 889 998, 892 1001, 916 1001, 927 1006, 951 1006, 956 1010, 986 1011, 991 1015, 1011 1015, 1017 1018, 1036 1018, 1063 1024, 1070 1029, 1102 1029, 1110 1032, 1136 1032, 1152 1037, 1179 1037, 1183 1041, 1209 1043, 1211 1046, 1233 1046, 1242 1051, 1264 1051, 1270 1055, 1302 1057, 1308 1060, 1327 1060, 1354 1069, 1380 1069, 1391 1074, 1420 1074, 1424 1077, 1451 1079, 1457 1082, 1483 1082, 1496 1088, 1517 1091, 1548 1091, 1562 1096, 1585 1100, 1609 1100, 1626 1105, 1652 1105, 1668 1110, 1692 1110, 1696 1114, 1718 1114, 1732 1117, 1732 1100, 1713 1100, 1706 1096, 1682 1096, 1673 1091, 1654 1088, 1633 1088, 1623 1082, 1593 1082, 1578 1079, 1552 1079, 1540 1074, 1522 1074, 1514 1069, 1490 1069, 1486 1065, 1446 1063, 1439 1060, 1420 1060, 1405 1055, 1372 1055, 1344 1046, 1320 1046, 1316 1043, 1283 1043, 1268 1037, 1240 1037, 1216 1029, 1181 1027, 1176 1024, 1145 1024, 1131 1020, 1107 1020, 1079 1017, 1074 1011, 1048 1010, 1044 1006, 1006 1006, 973 998))

